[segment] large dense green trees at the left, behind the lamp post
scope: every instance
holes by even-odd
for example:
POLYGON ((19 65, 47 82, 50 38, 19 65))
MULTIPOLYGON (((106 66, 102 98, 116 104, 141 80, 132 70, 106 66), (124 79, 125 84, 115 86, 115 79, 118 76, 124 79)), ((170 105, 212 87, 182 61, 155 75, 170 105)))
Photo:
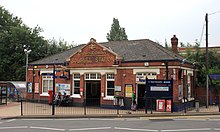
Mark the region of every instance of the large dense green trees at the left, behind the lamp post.
MULTIPOLYGON (((71 46, 66 42, 53 43, 40 36, 43 30, 27 27, 20 18, 0 6, 0 80, 25 80, 24 45, 32 51, 29 62, 61 52, 71 46), (55 44, 58 44, 55 46, 55 44)), ((55 42, 55 40, 53 40, 55 42)))

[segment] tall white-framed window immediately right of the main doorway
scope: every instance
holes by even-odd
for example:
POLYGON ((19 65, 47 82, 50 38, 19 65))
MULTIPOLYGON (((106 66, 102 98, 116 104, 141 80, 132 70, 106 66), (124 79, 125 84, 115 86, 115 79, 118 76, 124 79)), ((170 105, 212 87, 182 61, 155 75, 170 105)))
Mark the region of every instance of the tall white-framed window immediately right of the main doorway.
POLYGON ((115 75, 106 74, 106 96, 114 96, 115 91, 115 75))

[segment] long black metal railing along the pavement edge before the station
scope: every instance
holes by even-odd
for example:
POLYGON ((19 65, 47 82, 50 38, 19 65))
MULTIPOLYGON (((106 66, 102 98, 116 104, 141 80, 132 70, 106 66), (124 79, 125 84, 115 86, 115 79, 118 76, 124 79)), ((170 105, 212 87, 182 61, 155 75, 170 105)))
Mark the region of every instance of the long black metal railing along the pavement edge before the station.
POLYGON ((219 112, 218 105, 209 106, 209 109, 205 109, 204 106, 199 106, 199 110, 197 110, 195 101, 188 101, 179 104, 172 103, 172 111, 166 111, 166 108, 164 111, 158 111, 158 106, 156 106, 155 103, 156 100, 156 98, 148 98, 148 112, 146 112, 145 106, 140 108, 137 107, 136 110, 131 110, 130 107, 126 107, 125 105, 118 105, 119 103, 116 103, 116 105, 101 105, 100 99, 96 98, 87 98, 86 102, 68 102, 66 104, 56 104, 55 101, 53 101, 52 104, 49 104, 48 100, 25 99, 21 100, 21 115, 123 115, 157 114, 164 112, 219 112))

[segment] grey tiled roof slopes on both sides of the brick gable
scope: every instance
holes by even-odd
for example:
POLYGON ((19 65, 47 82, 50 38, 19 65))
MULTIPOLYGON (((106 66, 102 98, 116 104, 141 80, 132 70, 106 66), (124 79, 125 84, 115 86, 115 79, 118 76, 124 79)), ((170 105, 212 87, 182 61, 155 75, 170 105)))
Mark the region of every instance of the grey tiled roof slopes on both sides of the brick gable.
MULTIPOLYGON (((160 44, 149 39, 123 40, 98 43, 112 50, 123 59, 123 62, 132 61, 174 61, 184 58, 172 51, 167 50, 160 44)), ((54 54, 43 59, 34 61, 30 65, 62 64, 75 52, 83 48, 85 44, 78 45, 64 52, 54 54)))

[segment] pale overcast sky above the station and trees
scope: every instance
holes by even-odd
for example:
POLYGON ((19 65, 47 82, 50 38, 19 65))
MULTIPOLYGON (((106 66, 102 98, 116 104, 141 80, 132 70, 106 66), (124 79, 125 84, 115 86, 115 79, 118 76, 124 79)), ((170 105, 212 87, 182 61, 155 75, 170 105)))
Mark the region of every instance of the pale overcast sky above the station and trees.
POLYGON ((73 44, 90 38, 107 42, 113 18, 125 28, 129 40, 150 39, 205 47, 205 15, 208 13, 209 47, 220 46, 220 0, 0 0, 0 5, 34 28, 46 39, 73 44))

